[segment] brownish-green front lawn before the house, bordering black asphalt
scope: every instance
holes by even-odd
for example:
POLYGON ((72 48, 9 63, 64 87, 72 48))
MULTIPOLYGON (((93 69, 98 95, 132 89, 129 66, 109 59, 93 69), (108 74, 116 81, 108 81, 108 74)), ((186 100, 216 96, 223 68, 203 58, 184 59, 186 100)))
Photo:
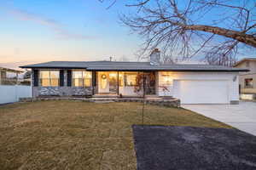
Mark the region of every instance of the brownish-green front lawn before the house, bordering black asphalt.
MULTIPOLYGON (((42 101, 0 106, 0 169, 136 169, 131 125, 142 104, 42 101)), ((194 112, 146 105, 151 125, 229 127, 194 112)))

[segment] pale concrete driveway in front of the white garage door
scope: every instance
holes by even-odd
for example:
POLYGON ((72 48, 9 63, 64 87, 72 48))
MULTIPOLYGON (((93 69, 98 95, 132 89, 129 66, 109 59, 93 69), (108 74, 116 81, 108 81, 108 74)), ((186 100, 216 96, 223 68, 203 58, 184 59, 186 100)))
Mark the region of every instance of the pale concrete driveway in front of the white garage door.
POLYGON ((240 101, 239 105, 182 105, 182 107, 256 136, 256 102, 240 101))

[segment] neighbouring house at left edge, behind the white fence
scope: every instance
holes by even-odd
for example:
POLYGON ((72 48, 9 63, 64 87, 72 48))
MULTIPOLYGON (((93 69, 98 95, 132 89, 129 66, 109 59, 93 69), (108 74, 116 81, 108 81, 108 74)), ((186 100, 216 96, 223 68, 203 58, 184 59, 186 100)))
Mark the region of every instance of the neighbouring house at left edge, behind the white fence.
POLYGON ((23 71, 0 67, 0 85, 15 85, 19 82, 19 74, 23 71))

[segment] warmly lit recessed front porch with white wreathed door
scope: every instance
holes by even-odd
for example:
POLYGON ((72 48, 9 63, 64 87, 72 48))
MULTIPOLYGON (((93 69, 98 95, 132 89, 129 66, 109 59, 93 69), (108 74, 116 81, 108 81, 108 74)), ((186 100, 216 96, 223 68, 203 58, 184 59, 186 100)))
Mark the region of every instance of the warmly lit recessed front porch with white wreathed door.
POLYGON ((156 95, 155 77, 154 71, 95 71, 93 97, 138 97, 143 96, 143 89, 146 95, 156 95))

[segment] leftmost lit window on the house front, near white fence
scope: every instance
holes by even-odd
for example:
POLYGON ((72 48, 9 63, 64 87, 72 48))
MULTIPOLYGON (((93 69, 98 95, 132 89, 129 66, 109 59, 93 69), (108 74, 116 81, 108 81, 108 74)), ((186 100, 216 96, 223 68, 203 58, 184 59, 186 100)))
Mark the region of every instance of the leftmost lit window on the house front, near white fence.
POLYGON ((43 87, 59 86, 60 71, 40 71, 40 82, 43 87))

